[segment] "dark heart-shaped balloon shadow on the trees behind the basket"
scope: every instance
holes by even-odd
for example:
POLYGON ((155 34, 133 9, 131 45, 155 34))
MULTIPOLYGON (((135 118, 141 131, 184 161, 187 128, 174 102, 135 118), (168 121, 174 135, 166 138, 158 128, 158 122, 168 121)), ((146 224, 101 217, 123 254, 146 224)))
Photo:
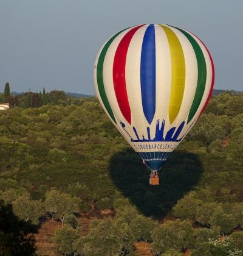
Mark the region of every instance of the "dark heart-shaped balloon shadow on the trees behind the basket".
POLYGON ((202 165, 195 154, 176 151, 159 171, 160 185, 149 185, 149 169, 132 149, 112 155, 110 174, 117 188, 146 216, 167 215, 196 186, 202 165))

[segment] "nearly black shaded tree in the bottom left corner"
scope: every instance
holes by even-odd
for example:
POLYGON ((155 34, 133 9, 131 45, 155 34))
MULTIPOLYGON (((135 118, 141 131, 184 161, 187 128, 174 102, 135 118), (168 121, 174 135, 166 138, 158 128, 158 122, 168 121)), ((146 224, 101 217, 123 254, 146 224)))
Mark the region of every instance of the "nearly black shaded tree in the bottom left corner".
POLYGON ((12 205, 0 200, 0 255, 36 255, 35 225, 19 220, 13 213, 12 205))

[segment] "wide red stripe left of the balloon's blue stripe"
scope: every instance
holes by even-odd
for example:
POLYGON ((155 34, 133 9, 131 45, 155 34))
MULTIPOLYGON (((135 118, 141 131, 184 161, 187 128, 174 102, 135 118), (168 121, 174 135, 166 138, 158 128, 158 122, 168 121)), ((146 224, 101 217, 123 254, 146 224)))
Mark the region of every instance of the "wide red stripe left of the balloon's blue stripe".
POLYGON ((129 32, 126 33, 126 35, 121 39, 120 43, 118 44, 117 51, 115 52, 113 63, 113 83, 115 96, 117 98, 121 113, 129 124, 131 124, 131 108, 129 106, 128 93, 126 91, 126 55, 128 54, 128 47, 132 37, 142 26, 144 25, 140 25, 129 30, 129 32))

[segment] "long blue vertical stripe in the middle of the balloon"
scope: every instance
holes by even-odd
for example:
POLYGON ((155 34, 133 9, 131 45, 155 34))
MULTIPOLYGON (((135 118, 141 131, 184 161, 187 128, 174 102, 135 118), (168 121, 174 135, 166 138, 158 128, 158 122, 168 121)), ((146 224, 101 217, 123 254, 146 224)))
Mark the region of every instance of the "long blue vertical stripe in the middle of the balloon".
POLYGON ((145 31, 141 52, 141 93, 143 113, 149 124, 156 112, 156 38, 154 25, 145 31))

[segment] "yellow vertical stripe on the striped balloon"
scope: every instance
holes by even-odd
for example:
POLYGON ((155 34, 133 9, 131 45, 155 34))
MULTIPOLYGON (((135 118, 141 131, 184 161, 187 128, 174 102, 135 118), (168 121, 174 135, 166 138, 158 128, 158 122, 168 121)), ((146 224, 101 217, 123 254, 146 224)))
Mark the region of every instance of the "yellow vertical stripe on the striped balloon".
POLYGON ((173 30, 162 24, 160 27, 165 31, 171 52, 171 96, 169 99, 169 122, 173 123, 180 111, 185 89, 185 57, 182 45, 173 30))

